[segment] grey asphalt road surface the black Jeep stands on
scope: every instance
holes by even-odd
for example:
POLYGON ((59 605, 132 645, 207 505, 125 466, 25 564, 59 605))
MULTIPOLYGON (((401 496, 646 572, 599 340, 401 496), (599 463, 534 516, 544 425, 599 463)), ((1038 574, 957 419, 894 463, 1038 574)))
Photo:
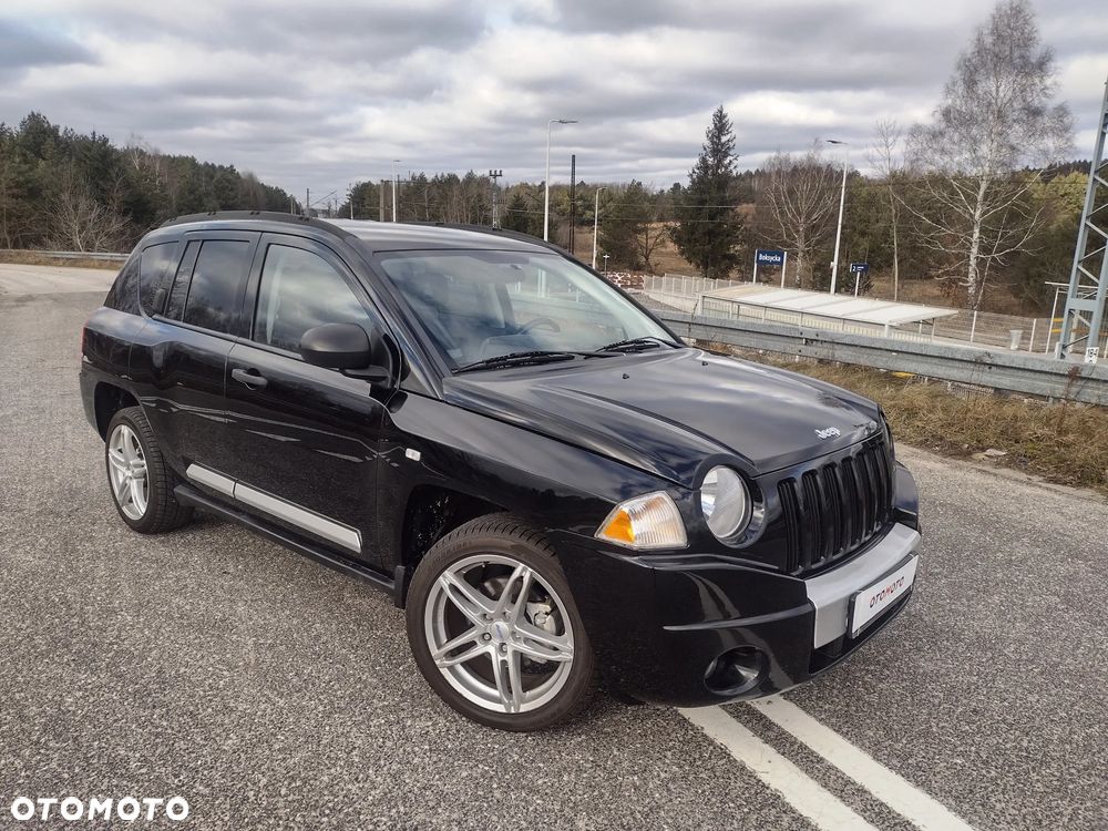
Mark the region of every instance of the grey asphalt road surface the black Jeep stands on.
POLYGON ((495 732, 438 701, 366 584, 211 517, 123 525, 76 386, 111 275, 66 291, 41 270, 29 295, 0 266, 0 828, 85 827, 16 822, 17 796, 175 794, 187 822, 151 824, 950 827, 922 800, 977 829, 1108 828, 1101 500, 902 449, 926 525, 913 602, 789 704, 697 711, 735 742, 609 698, 495 732), (767 717, 794 711, 834 763, 767 717))

